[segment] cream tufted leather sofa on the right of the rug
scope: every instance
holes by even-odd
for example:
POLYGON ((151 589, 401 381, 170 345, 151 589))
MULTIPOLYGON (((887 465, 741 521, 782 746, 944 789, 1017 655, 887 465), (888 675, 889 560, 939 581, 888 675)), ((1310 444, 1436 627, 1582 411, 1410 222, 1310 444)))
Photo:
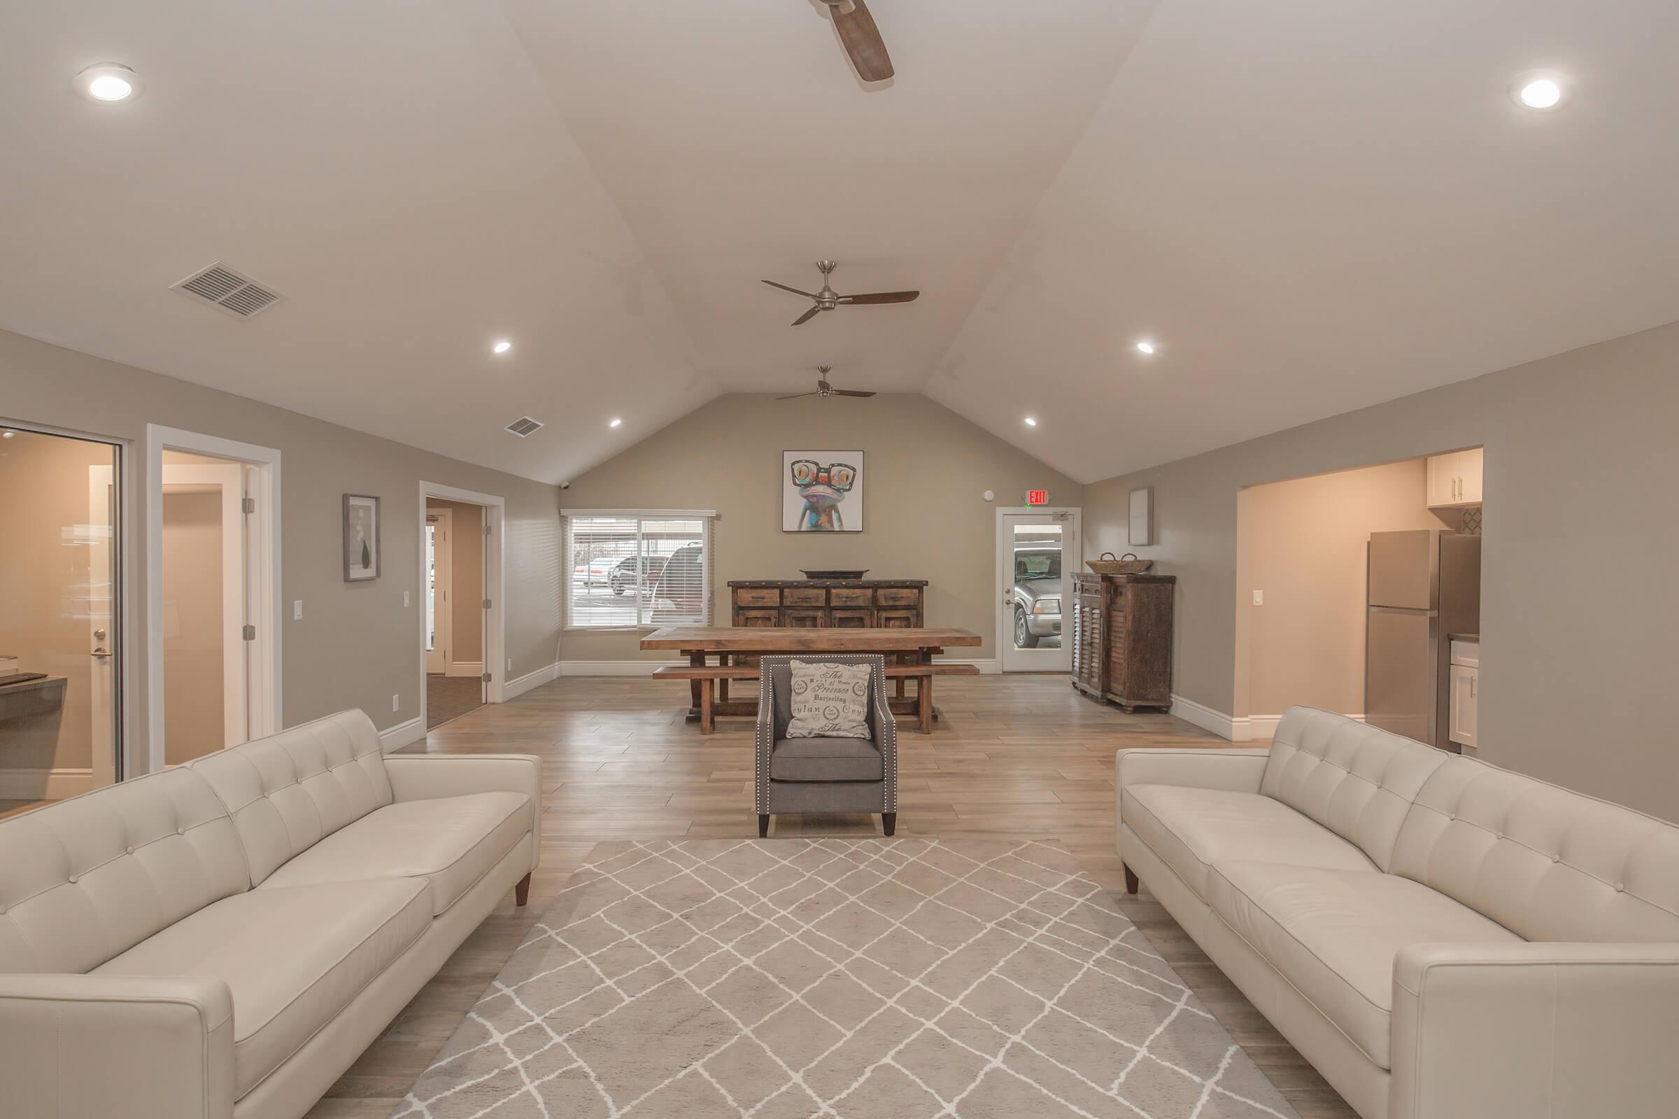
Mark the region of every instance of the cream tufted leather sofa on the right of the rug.
POLYGON ((1115 785, 1127 886, 1365 1119, 1679 1114, 1679 827, 1313 708, 1115 785))

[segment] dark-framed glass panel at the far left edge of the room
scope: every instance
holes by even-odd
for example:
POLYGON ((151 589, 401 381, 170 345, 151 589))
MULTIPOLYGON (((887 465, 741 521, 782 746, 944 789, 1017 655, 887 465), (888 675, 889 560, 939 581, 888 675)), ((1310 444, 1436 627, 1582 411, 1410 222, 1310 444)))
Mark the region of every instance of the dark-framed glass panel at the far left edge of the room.
POLYGON ((0 428, 0 815, 118 778, 119 460, 0 428))

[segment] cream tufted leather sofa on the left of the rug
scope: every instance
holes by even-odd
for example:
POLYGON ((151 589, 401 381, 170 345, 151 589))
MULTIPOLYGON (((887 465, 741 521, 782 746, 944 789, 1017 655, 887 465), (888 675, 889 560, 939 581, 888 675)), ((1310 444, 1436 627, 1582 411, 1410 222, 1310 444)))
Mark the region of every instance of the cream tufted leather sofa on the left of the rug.
POLYGON ((541 773, 344 711, 0 820, 0 1114, 302 1116, 524 904, 541 773))

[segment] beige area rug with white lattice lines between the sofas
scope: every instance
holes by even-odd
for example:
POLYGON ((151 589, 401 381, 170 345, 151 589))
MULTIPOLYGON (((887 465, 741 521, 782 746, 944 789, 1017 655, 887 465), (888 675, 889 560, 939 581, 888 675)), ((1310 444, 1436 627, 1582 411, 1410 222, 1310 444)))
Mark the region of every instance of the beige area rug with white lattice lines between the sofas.
POLYGON ((604 842, 395 1116, 1296 1119, 1033 841, 604 842))

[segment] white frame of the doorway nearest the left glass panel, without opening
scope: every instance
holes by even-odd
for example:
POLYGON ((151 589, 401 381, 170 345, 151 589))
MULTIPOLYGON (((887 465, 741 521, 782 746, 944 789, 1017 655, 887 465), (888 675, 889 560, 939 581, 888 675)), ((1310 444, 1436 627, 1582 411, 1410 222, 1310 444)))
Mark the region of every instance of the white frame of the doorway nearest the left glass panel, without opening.
POLYGON ((272 446, 238 443, 198 431, 146 424, 146 745, 148 772, 165 768, 163 730, 163 451, 186 451, 230 458, 250 471, 257 513, 250 518, 247 549, 250 621, 257 627, 248 641, 250 736, 264 738, 280 730, 280 453, 272 446))

